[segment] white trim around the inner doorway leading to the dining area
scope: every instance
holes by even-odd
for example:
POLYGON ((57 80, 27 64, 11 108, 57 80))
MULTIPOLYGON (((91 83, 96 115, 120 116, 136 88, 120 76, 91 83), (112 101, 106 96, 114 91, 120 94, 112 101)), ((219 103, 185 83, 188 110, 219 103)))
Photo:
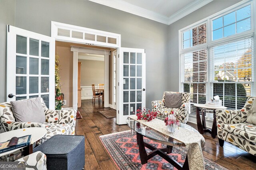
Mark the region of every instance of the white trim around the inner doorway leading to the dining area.
POLYGON ((73 51, 73 109, 77 109, 78 53, 104 55, 104 107, 109 107, 109 56, 110 50, 71 46, 73 51))

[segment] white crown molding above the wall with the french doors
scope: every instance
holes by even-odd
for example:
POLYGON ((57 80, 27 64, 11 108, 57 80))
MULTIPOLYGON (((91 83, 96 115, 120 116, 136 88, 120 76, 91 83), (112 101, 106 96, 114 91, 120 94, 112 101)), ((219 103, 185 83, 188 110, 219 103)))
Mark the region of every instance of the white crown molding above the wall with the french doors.
POLYGON ((153 12, 153 11, 146 10, 144 8, 132 5, 123 0, 89 0, 89 1, 102 4, 105 6, 109 6, 111 8, 115 8, 124 12, 128 12, 130 14, 148 18, 150 20, 164 23, 166 25, 168 25, 169 23, 169 17, 159 14, 157 12, 153 12))

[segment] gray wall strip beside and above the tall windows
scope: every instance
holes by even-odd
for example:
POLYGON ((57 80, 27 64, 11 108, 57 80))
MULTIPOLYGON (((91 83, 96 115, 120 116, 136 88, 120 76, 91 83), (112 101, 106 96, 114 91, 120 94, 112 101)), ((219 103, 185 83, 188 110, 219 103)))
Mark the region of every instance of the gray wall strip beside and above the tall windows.
POLYGON ((215 14, 241 0, 214 0, 184 18, 169 25, 169 90, 179 90, 179 29, 215 14))

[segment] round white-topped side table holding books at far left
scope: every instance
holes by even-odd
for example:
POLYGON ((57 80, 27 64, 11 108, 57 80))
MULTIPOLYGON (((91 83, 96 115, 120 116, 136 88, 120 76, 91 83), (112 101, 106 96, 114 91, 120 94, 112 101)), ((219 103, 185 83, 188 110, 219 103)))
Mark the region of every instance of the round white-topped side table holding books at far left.
POLYGON ((7 155, 7 154, 11 154, 11 153, 15 152, 16 150, 20 150, 22 148, 24 148, 24 156, 26 156, 28 154, 32 154, 33 153, 33 144, 36 141, 42 139, 42 137, 44 137, 45 134, 46 134, 46 129, 44 127, 29 127, 29 128, 16 129, 13 131, 0 133, 0 142, 8 141, 12 137, 22 137, 22 136, 26 136, 26 135, 31 135, 31 142, 30 142, 29 146, 10 150, 8 152, 3 152, 0 154, 0 157, 7 155))

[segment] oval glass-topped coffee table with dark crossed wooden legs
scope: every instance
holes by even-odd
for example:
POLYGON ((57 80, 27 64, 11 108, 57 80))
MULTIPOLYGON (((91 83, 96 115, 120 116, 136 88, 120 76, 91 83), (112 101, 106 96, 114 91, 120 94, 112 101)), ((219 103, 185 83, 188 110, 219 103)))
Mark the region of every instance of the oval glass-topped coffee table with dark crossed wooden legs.
MULTIPOLYGON (((186 146, 181 141, 178 141, 176 139, 173 139, 172 137, 169 137, 167 135, 164 135, 163 133, 160 133, 159 131, 156 131, 130 117, 126 119, 127 125, 134 131, 136 131, 136 137, 137 137, 137 144, 139 145, 139 152, 140 152, 140 160, 141 164, 146 164, 150 158, 153 156, 159 155, 165 160, 167 160, 170 164, 172 164, 177 169, 189 169, 188 167, 188 155, 186 155, 186 160, 183 164, 183 166, 178 163, 176 160, 171 158, 168 154, 172 152, 173 146, 178 147, 184 147, 186 146), (153 141, 156 141, 158 143, 162 143, 167 145, 163 148, 156 148, 146 142, 143 141, 143 137, 146 137, 148 139, 151 139, 153 141), (145 147, 152 150, 147 154, 145 147)), ((196 129, 193 127, 186 125, 184 123, 180 123, 180 127, 183 127, 189 131, 194 131, 198 133, 196 129)))

